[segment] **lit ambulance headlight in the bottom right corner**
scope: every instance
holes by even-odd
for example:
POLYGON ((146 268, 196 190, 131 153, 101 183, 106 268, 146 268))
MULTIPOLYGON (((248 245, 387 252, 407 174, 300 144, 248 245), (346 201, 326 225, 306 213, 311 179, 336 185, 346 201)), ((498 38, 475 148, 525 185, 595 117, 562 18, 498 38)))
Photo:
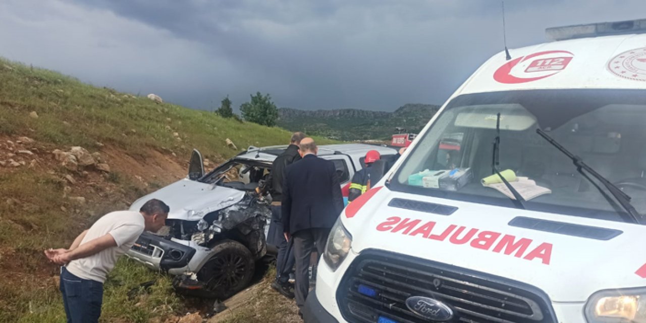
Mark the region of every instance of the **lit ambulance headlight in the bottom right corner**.
POLYGON ((599 291, 585 306, 590 323, 646 323, 646 288, 599 291))

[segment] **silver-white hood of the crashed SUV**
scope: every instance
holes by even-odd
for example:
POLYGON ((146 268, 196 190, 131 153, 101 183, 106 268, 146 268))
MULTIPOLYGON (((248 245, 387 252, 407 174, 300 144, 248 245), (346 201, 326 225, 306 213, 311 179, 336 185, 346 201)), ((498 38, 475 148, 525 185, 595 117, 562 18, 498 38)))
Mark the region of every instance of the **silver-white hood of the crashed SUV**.
POLYGON ((240 202, 244 194, 236 189, 184 178, 136 200, 130 210, 139 211, 143 203, 156 198, 171 208, 169 219, 198 221, 210 212, 240 202))

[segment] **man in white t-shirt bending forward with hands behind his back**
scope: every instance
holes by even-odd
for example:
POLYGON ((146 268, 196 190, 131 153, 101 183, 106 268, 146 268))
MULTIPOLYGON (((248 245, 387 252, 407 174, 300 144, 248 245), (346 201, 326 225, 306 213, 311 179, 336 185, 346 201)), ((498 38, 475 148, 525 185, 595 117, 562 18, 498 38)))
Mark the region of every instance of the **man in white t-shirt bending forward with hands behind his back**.
POLYGON ((157 232, 165 224, 169 207, 152 199, 139 212, 105 214, 83 231, 69 249, 49 249, 45 255, 61 267, 60 289, 68 323, 98 322, 103 282, 119 256, 144 231, 157 232))

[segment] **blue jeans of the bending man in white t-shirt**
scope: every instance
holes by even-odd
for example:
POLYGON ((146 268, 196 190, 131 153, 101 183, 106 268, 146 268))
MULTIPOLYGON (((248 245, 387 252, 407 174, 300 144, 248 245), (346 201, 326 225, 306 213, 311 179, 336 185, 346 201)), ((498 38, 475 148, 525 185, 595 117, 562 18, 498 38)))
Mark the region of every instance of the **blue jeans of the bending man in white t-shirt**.
POLYGON ((99 322, 103 303, 103 283, 81 279, 61 267, 61 293, 67 323, 99 322))

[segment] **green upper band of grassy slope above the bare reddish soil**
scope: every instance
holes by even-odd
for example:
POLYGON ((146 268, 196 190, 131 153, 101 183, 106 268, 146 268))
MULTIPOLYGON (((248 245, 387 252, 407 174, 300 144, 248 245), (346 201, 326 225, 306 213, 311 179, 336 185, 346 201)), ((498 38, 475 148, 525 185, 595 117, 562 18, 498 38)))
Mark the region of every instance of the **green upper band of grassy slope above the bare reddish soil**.
POLYGON ((289 138, 286 130, 240 123, 179 105, 158 105, 147 98, 132 98, 1 59, 0 107, 0 134, 23 134, 87 149, 97 149, 99 141, 129 154, 139 154, 141 147, 187 154, 196 147, 207 156, 228 158, 235 151, 226 147, 225 138, 231 138, 238 148, 280 144, 289 138), (39 118, 28 118, 31 111, 39 118), (178 132, 183 141, 175 140, 172 132, 178 132))

